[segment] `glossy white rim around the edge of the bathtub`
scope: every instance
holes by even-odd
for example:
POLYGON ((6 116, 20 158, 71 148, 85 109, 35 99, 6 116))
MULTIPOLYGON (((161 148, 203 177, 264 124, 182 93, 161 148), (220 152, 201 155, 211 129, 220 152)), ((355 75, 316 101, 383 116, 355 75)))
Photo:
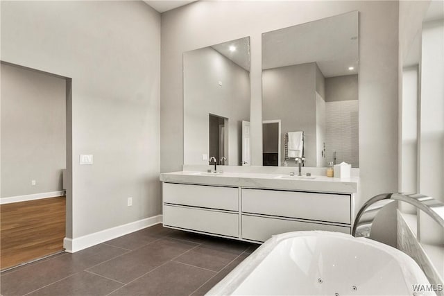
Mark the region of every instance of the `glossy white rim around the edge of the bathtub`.
POLYGON ((339 232, 327 232, 321 230, 315 231, 304 231, 304 232, 287 232, 284 234, 278 234, 272 236, 268 241, 263 243, 258 247, 253 254, 250 254, 244 261, 239 263, 236 268, 234 268, 225 278, 219 281, 216 286, 214 286, 206 295, 232 295, 234 291, 244 283, 248 276, 254 272, 254 270, 259 266, 259 264, 268 256, 268 254, 273 250, 278 243, 286 241, 291 238, 302 238, 302 237, 313 237, 313 236, 336 236, 345 238, 347 240, 359 240, 365 245, 371 245, 378 250, 382 250, 390 254, 395 261, 398 262, 402 275, 404 275, 404 282, 406 287, 411 290, 413 294, 413 284, 429 284, 427 277, 421 270, 418 263, 411 259, 410 256, 404 254, 404 252, 395 249, 384 243, 379 243, 378 241, 373 241, 369 238, 355 238, 350 234, 343 234, 339 232), (413 272, 413 270, 418 270, 418 272, 413 272), (420 282, 418 283, 418 279, 420 282))

